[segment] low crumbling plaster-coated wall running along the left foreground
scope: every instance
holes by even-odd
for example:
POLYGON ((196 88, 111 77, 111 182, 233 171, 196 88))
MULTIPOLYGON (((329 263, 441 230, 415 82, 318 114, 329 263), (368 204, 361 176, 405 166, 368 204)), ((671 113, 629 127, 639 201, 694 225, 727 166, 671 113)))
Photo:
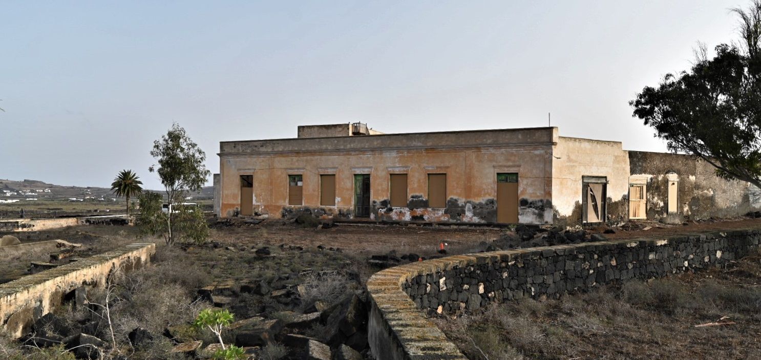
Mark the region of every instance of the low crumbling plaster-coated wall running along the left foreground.
POLYGON ((150 263, 155 252, 155 244, 131 244, 0 285, 2 330, 14 338, 23 336, 66 295, 85 286, 103 287, 114 269, 139 268, 150 263))

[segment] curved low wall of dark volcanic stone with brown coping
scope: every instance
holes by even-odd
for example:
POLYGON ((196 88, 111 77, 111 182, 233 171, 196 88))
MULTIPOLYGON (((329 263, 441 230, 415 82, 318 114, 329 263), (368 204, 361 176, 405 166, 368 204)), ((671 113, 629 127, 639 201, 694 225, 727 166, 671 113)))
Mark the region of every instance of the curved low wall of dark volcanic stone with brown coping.
POLYGON ((476 310, 721 266, 747 256, 759 241, 761 229, 715 231, 474 253, 385 269, 368 280, 371 351, 378 360, 465 359, 424 311, 476 310))

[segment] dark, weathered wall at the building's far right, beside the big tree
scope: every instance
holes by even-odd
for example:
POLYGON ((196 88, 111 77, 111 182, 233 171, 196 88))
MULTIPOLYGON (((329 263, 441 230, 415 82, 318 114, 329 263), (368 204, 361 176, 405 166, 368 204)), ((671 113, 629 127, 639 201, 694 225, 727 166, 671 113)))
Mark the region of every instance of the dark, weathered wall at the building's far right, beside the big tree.
POLYGON ((649 179, 645 191, 648 219, 667 218, 669 177, 678 180, 677 215, 726 218, 761 208, 755 186, 717 177, 715 167, 696 156, 629 151, 629 163, 632 176, 649 179))

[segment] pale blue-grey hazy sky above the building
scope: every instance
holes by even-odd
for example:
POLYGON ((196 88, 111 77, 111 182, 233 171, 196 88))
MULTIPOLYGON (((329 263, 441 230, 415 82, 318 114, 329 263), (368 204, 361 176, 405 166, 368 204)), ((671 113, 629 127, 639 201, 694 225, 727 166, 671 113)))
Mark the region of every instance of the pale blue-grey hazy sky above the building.
POLYGON ((627 104, 737 38, 746 2, 2 2, 0 178, 108 186, 177 121, 218 142, 361 121, 552 125, 665 151, 627 104))

